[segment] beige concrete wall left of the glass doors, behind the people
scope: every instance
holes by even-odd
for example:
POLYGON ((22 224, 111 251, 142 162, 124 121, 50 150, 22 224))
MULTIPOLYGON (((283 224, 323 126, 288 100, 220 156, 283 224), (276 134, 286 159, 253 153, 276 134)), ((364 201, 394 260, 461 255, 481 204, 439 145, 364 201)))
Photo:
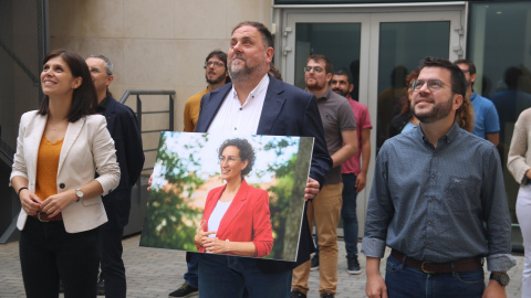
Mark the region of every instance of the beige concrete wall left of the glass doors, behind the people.
MULTIPOLYGON (((186 99, 206 87, 205 57, 227 52, 232 28, 252 20, 271 25, 271 0, 52 0, 50 47, 82 56, 103 54, 114 63, 111 92, 176 91, 175 130, 183 129, 186 99)), ((166 97, 143 97, 144 109, 166 108, 166 97)), ((127 105, 135 109, 134 98, 127 105)), ((157 117, 143 118, 157 129, 157 117)), ((156 147, 158 136, 145 136, 156 147)), ((147 157, 146 166, 154 156, 147 157)))

